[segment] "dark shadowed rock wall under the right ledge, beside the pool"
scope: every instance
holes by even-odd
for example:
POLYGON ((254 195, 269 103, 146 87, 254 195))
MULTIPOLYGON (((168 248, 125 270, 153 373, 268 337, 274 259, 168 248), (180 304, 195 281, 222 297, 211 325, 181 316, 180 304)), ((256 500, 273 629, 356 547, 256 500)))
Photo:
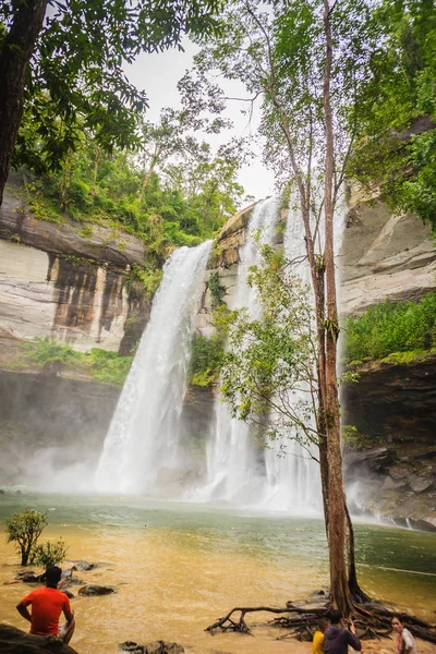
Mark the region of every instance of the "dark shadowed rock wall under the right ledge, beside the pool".
POLYGON ((436 354, 410 364, 374 362, 344 388, 344 424, 360 449, 346 445, 354 508, 436 530, 436 354), (359 482, 355 484, 356 480, 359 482))

